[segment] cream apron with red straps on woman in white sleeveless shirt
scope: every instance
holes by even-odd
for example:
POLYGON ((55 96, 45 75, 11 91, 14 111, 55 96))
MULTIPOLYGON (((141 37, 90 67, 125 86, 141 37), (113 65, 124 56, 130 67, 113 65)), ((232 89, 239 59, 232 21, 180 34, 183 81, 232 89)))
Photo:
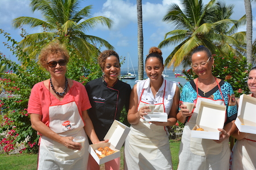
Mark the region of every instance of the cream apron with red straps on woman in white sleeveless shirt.
MULTIPOLYGON (((166 81, 165 81, 166 86, 166 81)), ((164 92, 165 92, 164 87, 164 92)), ((146 103, 139 98, 138 111, 146 103)), ((155 112, 165 112, 163 103, 155 104, 155 112)), ((138 124, 131 125, 126 138, 125 158, 127 169, 172 169, 171 151, 167 131, 164 126, 156 126, 140 118, 138 124)))

